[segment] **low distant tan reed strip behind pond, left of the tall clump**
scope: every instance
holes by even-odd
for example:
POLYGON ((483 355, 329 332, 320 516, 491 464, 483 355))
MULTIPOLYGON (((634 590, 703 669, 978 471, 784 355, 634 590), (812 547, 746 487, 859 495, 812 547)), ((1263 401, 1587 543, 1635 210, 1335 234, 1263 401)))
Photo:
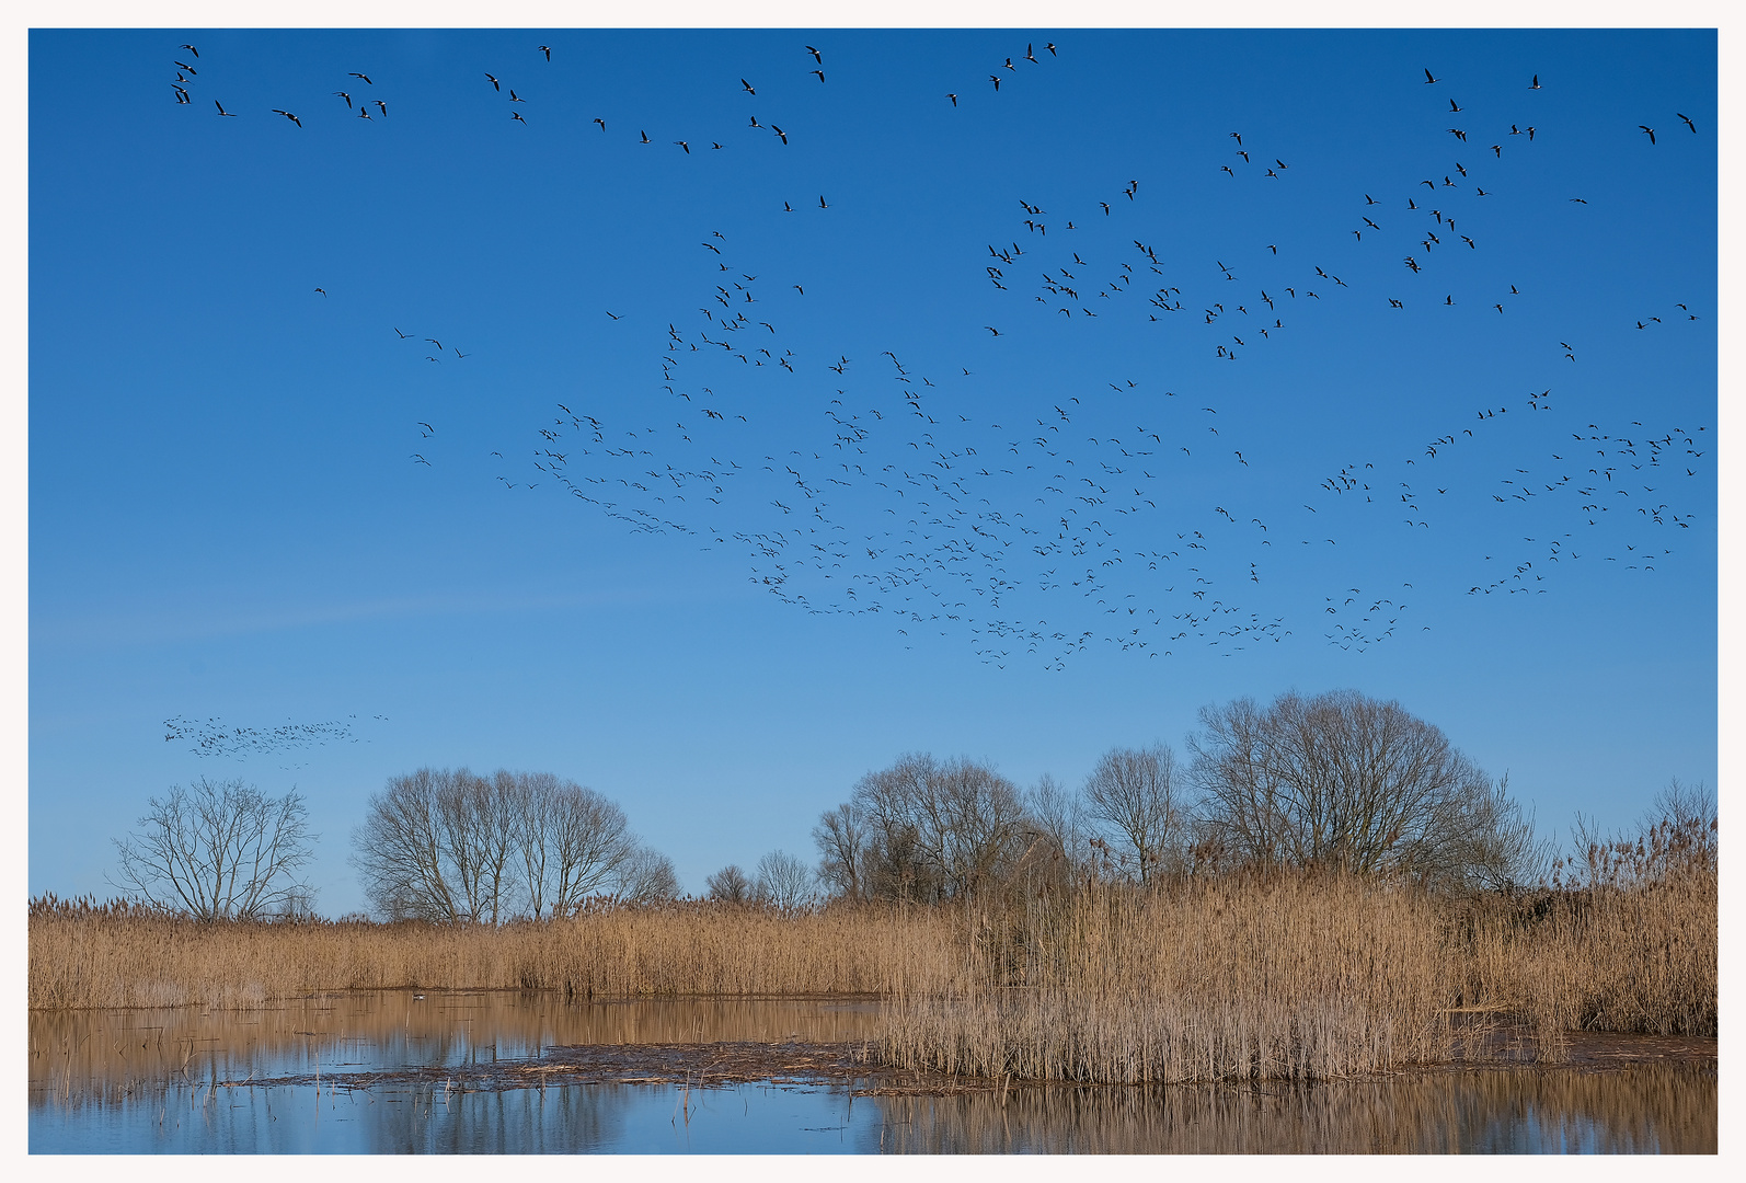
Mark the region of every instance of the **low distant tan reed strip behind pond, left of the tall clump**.
POLYGON ((564 998, 890 995, 955 977, 945 914, 784 916, 674 904, 489 925, 196 923, 37 906, 30 1005, 255 1007, 323 989, 550 989, 564 998))

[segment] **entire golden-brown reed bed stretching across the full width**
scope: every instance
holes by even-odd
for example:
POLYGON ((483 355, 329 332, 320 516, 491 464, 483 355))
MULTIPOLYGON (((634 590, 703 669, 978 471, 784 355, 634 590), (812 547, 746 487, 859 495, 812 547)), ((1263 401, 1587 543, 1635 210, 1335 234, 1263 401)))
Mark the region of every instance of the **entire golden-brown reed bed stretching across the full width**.
POLYGON ((938 907, 780 914, 702 902, 505 927, 199 925, 38 900, 33 1009, 340 989, 566 998, 876 995, 917 1070, 1084 1082, 1344 1077, 1484 1057, 1510 1017, 1542 1054, 1589 1028, 1716 1031, 1716 874, 1446 897, 1344 876, 1233 876, 938 907))

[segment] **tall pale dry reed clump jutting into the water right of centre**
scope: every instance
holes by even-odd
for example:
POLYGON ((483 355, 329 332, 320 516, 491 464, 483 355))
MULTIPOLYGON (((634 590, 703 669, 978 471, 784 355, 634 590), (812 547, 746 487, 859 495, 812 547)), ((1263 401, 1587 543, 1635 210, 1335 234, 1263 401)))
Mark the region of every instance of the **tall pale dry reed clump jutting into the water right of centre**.
POLYGON ((1446 1059, 1454 958, 1439 920, 1419 892, 1303 876, 1091 888, 973 916, 960 944, 983 951, 983 989, 897 998, 885 1056, 1088 1084, 1446 1059))

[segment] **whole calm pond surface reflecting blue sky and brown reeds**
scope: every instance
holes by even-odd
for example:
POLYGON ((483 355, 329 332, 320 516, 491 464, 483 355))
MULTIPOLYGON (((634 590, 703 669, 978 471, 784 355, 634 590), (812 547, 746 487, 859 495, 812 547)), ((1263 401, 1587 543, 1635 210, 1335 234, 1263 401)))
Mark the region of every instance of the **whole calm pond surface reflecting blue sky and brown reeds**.
POLYGON ((31 1153, 1715 1153, 1716 1063, 1077 1089, 880 1073, 871 1002, 31 1012, 31 1153), (578 1084, 578 1080, 585 1080, 578 1084), (702 1087, 700 1087, 702 1084, 702 1087), (962 1087, 962 1082, 960 1082, 962 1087))

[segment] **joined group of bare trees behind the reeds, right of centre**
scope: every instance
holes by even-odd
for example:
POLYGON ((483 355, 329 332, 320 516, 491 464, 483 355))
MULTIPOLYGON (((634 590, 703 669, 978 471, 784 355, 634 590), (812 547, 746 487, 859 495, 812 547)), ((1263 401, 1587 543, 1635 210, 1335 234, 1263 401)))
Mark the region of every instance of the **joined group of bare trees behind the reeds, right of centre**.
POLYGON ((1322 867, 1437 888, 1540 879, 1533 818, 1435 726, 1355 691, 1240 698, 1168 745, 1103 754, 1077 789, 1028 790, 964 757, 868 773, 814 839, 828 890, 936 902, 980 886, 1093 876, 1152 885, 1322 867))

